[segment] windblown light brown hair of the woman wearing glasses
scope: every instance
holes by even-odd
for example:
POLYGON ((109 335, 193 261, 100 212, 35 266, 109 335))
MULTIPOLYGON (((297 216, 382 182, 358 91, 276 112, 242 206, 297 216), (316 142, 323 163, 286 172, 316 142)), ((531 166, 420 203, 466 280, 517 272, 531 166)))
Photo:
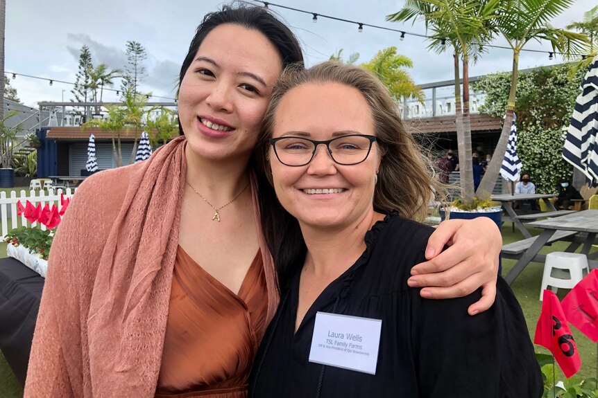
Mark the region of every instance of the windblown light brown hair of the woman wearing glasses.
POLYGON ((374 119, 377 145, 382 162, 374 190, 374 209, 388 214, 398 211, 409 219, 421 221, 428 213, 428 204, 444 192, 429 168, 424 155, 427 150, 416 143, 399 116, 400 111, 384 84, 365 69, 340 62, 323 62, 310 69, 289 66, 276 83, 264 116, 262 134, 256 154, 269 175, 269 139, 276 123, 280 101, 294 87, 306 83, 334 82, 359 90, 368 102, 374 119))

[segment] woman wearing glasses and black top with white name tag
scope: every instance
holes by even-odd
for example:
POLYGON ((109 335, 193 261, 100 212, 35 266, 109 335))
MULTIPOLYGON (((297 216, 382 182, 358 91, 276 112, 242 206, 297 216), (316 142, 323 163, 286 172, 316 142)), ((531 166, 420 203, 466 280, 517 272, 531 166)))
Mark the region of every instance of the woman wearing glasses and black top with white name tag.
POLYGON ((382 84, 325 62, 277 82, 258 144, 297 228, 282 239, 284 287, 250 378, 250 396, 540 397, 543 381, 521 309, 499 278, 432 302, 407 287, 432 228, 418 224, 441 192, 382 84), (268 138, 271 138, 268 140, 268 138), (268 145, 269 143, 269 145, 268 145))

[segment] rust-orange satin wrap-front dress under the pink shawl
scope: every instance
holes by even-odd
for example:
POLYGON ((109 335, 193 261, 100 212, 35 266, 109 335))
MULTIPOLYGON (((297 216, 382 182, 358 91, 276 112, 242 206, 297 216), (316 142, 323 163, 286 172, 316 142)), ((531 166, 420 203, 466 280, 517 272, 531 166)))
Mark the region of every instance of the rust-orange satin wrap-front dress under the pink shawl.
POLYGON ((234 294, 178 246, 156 397, 245 398, 267 307, 260 251, 234 294))

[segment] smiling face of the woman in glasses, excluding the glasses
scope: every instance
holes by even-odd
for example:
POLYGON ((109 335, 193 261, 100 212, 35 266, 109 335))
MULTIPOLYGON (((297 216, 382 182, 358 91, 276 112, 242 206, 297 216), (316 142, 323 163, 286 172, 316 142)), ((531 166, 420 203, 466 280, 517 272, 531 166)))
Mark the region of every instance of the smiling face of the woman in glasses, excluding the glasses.
MULTIPOLYGON (((272 138, 302 136, 324 141, 347 134, 375 136, 364 96, 344 84, 305 83, 282 97, 272 138)), ((356 165, 334 163, 324 145, 318 145, 311 162, 299 167, 280 163, 271 148, 270 164, 280 203, 302 225, 346 228, 373 215, 380 164, 376 143, 368 158, 356 165)))

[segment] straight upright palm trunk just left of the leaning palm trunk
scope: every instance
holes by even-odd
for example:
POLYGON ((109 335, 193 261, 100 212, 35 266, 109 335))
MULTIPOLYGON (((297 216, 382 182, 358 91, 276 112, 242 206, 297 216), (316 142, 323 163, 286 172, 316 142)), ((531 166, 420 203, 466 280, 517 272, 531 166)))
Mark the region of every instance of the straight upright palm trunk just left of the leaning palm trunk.
MULTIPOLYGON (((461 186, 461 198, 468 202, 473 199, 473 168, 471 163, 471 125, 469 120, 465 122, 465 115, 461 107, 461 79, 459 76, 459 55, 454 55, 454 102, 456 113, 456 137, 459 145, 459 174, 461 186), (466 128, 467 125, 469 128, 466 128)), ((465 73, 467 73, 467 63, 463 59, 463 82, 465 82, 465 73)), ((465 91, 463 85, 463 100, 467 111, 469 102, 468 91, 465 91), (466 97, 465 97, 466 96, 466 97)))

